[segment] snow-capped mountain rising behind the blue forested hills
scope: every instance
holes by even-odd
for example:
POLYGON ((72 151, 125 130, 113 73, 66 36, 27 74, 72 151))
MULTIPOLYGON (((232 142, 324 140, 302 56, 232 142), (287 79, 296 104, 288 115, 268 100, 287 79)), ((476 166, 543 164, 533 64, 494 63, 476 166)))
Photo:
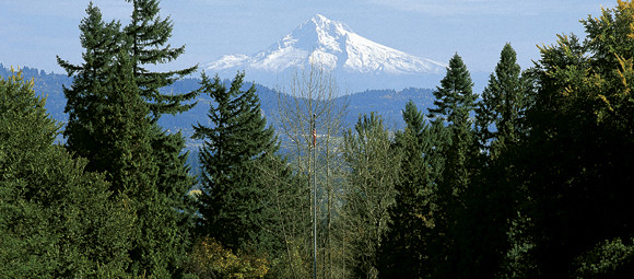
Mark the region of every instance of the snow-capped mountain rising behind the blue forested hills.
POLYGON ((223 56, 206 68, 223 78, 232 78, 236 71, 245 70, 247 80, 283 85, 284 78, 308 69, 310 65, 331 71, 341 88, 353 91, 432 88, 446 69, 445 63, 374 43, 345 24, 320 14, 266 50, 253 56, 223 56), (433 84, 430 84, 430 79, 433 84))

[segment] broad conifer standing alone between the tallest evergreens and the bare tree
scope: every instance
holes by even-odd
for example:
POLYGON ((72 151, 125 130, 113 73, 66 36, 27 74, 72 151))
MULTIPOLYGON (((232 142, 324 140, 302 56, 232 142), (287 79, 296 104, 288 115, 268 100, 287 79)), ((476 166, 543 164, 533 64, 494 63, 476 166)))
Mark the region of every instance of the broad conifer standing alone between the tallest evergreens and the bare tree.
POLYGON ((267 205, 258 165, 278 150, 278 143, 273 129, 266 127, 255 86, 242 90, 243 78, 238 73, 227 90, 218 75, 212 82, 202 74, 200 91, 215 105, 208 114, 213 127, 193 126, 193 137, 204 140, 201 230, 232 249, 270 252, 280 243, 265 230, 267 223, 275 223, 275 213, 267 205))

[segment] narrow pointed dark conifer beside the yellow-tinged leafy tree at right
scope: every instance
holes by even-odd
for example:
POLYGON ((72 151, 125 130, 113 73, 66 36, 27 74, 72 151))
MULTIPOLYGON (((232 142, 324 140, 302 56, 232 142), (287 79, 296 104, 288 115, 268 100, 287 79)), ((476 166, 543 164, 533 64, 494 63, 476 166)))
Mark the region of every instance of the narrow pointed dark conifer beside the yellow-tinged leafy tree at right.
POLYGON ((461 276, 494 277, 510 245, 523 245, 515 236, 519 226, 513 223, 527 220, 518 220, 518 204, 524 197, 510 150, 525 135, 524 114, 529 104, 526 80, 515 50, 506 44, 476 109, 476 137, 479 148, 488 152, 472 159, 479 167, 463 193, 465 206, 455 229, 455 246, 468 258, 460 264, 460 270, 468 270, 461 276))

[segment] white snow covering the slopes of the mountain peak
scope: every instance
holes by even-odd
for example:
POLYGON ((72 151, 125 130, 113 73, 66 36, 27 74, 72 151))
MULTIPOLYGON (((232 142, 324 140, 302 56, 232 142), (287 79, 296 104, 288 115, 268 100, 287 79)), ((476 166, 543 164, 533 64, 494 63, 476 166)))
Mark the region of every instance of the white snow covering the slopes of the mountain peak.
POLYGON ((208 63, 213 71, 281 73, 318 65, 353 74, 444 73, 445 63, 412 56, 374 43, 342 22, 315 14, 266 50, 251 56, 230 55, 208 63))

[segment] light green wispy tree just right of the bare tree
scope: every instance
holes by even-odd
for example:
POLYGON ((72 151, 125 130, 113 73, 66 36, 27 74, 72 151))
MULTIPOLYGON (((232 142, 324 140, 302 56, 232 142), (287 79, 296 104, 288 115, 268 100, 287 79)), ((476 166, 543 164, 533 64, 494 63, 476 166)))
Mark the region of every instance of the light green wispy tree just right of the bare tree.
POLYGON ((345 225, 350 228, 350 254, 357 277, 376 278, 381 239, 388 229, 388 208, 395 202, 400 153, 392 148, 379 116, 360 116, 354 132, 343 136, 343 158, 349 165, 345 225))

